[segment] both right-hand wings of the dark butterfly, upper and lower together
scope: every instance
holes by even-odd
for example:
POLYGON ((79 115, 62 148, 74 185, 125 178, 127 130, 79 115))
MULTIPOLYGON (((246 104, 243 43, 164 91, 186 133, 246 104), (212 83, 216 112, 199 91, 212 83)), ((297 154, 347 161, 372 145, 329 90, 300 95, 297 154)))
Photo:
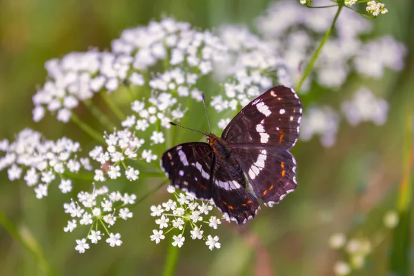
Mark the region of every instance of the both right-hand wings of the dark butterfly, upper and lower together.
POLYGON ((297 186, 296 161, 288 149, 299 137, 301 117, 302 103, 295 91, 275 86, 248 103, 221 135, 255 195, 268 206, 297 186))

